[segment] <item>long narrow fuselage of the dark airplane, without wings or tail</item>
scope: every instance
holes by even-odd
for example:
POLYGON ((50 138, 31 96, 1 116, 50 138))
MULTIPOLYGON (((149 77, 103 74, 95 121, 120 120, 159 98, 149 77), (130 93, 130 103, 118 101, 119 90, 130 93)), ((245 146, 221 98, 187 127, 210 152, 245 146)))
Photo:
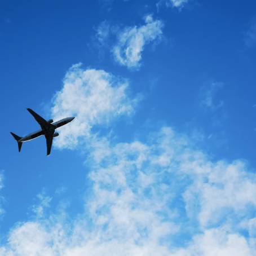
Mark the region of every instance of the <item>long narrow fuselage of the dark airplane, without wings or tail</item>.
MULTIPOLYGON (((55 129, 59 128, 60 126, 66 125, 67 123, 71 122, 74 117, 66 117, 57 122, 51 123, 51 127, 47 129, 41 129, 38 131, 34 131, 34 133, 30 133, 24 137, 22 137, 19 142, 27 142, 28 140, 36 139, 39 136, 46 135, 46 134, 54 134, 55 129)), ((58 135, 58 134, 57 134, 58 135)))

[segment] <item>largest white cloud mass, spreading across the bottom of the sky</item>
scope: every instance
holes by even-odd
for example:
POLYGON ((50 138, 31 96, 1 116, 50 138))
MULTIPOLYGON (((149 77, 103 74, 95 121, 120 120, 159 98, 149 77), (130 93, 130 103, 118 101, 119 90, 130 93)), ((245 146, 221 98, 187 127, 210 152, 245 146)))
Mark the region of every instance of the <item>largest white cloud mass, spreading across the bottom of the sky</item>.
POLYGON ((21 223, 4 255, 255 255, 256 175, 245 162, 211 161, 170 127, 88 147, 85 212, 21 223))

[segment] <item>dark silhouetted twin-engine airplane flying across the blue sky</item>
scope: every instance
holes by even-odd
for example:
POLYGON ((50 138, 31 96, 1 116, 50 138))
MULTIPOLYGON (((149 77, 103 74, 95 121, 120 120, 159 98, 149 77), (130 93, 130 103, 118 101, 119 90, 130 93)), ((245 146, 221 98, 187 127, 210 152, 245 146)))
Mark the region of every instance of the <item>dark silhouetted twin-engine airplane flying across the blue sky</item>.
POLYGON ((11 132, 11 135, 14 136, 14 139, 18 143, 19 152, 21 151, 21 146, 23 142, 27 142, 28 140, 32 140, 39 136, 45 135, 46 145, 47 145, 47 156, 48 156, 51 153, 52 140, 54 139, 54 137, 59 136, 58 133, 55 133, 55 129, 71 122, 74 119, 74 117, 66 117, 57 122, 54 122, 54 120, 52 119, 46 121, 41 116, 39 116, 39 114, 34 112, 32 109, 30 108, 27 108, 27 109, 28 109, 28 112, 32 114, 32 116, 39 123, 39 125, 41 126, 41 130, 35 131, 34 133, 30 133, 24 137, 20 137, 12 132, 11 132))

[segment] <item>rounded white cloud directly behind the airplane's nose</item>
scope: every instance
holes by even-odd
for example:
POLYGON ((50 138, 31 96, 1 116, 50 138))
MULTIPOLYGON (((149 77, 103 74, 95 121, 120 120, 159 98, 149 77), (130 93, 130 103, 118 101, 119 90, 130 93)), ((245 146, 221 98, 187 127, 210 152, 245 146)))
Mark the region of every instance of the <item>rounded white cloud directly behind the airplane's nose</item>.
POLYGON ((63 88, 54 97, 54 120, 74 116, 71 123, 61 127, 56 138, 59 148, 74 148, 79 139, 91 136, 91 127, 108 125, 113 118, 134 112, 136 100, 127 96, 128 82, 104 70, 82 69, 73 65, 67 72, 63 88))

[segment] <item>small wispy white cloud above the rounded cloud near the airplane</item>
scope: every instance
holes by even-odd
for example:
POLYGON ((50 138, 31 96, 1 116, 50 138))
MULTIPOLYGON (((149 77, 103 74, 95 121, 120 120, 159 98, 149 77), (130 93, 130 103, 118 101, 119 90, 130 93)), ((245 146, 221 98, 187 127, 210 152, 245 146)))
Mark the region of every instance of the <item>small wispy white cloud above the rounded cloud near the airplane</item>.
POLYGON ((139 68, 144 46, 162 38, 164 24, 154 20, 151 15, 145 16, 145 25, 127 27, 118 34, 118 42, 113 47, 114 59, 127 68, 139 68))

